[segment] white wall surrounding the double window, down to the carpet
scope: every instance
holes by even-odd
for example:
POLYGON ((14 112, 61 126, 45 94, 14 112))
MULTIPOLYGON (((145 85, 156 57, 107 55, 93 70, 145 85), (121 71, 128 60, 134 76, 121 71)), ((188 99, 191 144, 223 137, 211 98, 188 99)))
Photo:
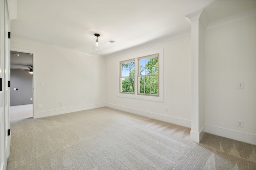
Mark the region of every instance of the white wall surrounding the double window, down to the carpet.
POLYGON ((106 106, 190 127, 191 38, 183 37, 106 59, 106 106), (164 102, 117 97, 119 60, 164 48, 164 102), (116 103, 115 103, 116 100, 116 103), (168 107, 168 112, 164 112, 168 107))

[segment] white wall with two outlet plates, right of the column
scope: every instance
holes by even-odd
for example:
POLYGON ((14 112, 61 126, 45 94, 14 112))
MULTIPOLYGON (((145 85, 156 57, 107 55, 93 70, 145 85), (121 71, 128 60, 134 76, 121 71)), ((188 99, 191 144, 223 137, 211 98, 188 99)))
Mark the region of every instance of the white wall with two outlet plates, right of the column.
POLYGON ((256 145, 256 17, 206 30, 206 131, 256 145), (237 88, 244 82, 244 89, 237 88), (236 121, 243 120, 244 127, 236 121))

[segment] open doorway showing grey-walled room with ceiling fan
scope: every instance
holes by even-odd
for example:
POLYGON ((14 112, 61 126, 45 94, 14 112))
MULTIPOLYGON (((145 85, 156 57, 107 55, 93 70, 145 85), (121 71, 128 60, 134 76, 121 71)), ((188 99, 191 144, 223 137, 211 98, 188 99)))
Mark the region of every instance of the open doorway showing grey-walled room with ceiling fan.
POLYGON ((10 52, 10 121, 33 117, 33 53, 10 52))

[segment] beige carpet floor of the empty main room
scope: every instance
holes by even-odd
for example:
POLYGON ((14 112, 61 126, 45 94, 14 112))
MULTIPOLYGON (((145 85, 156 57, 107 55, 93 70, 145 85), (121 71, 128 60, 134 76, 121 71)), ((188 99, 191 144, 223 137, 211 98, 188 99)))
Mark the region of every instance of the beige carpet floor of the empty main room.
POLYGON ((11 122, 8 170, 255 170, 256 145, 102 107, 11 122))

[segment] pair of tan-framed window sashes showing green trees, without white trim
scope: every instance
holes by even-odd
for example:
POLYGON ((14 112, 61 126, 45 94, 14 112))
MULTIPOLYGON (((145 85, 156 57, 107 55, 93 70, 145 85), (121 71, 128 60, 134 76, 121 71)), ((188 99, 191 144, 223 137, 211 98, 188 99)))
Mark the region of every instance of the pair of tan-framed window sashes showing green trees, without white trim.
POLYGON ((159 54, 120 62, 120 92, 159 96, 158 59, 159 54))

